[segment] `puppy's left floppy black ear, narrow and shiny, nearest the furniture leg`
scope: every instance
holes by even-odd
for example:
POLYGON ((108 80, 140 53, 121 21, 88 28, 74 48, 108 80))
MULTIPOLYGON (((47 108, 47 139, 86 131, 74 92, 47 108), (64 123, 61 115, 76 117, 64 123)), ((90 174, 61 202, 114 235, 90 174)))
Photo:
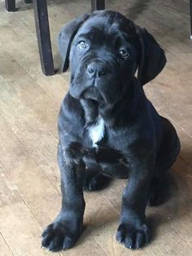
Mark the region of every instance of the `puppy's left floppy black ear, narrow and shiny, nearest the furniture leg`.
POLYGON ((81 24, 85 22, 89 18, 89 14, 83 14, 76 20, 72 20, 68 24, 66 24, 58 37, 59 44, 59 53, 62 57, 63 64, 62 70, 65 72, 69 66, 69 53, 71 49, 72 39, 75 37, 78 29, 80 29, 81 24))

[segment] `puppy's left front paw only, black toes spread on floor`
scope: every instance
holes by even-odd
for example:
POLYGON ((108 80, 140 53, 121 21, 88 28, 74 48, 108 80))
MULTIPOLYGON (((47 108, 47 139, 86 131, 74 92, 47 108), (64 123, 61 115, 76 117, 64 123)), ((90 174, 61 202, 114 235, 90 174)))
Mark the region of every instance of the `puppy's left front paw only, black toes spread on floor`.
POLYGON ((53 252, 72 248, 82 232, 82 225, 74 229, 73 224, 67 221, 51 223, 42 232, 41 245, 53 252))

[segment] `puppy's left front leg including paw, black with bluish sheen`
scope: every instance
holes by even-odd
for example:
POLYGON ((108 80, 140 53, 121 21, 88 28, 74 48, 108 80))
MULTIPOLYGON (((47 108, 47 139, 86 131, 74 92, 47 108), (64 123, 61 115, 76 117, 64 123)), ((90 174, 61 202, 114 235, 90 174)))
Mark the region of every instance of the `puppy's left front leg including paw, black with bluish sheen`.
POLYGON ((83 179, 85 164, 68 159, 59 143, 58 162, 61 171, 62 209, 53 223, 42 233, 42 246, 51 251, 75 245, 83 229, 85 201, 83 179))

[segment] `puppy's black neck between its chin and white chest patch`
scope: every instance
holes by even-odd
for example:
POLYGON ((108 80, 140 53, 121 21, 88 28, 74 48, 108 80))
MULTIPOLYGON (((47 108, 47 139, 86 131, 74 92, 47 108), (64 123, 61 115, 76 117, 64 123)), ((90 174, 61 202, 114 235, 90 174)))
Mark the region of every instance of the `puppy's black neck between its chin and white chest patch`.
POLYGON ((143 90, 138 88, 137 79, 134 79, 124 90, 122 98, 116 104, 106 104, 94 99, 81 99, 84 109, 85 126, 92 126, 101 117, 106 126, 118 126, 131 121, 137 112, 139 104, 142 104, 143 90))

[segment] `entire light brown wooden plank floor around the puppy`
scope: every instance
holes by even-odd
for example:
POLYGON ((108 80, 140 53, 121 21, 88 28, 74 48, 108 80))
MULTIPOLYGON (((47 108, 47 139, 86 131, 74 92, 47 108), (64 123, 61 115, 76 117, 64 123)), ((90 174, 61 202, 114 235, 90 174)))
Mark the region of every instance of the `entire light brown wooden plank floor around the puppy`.
MULTIPOLYGON (((0 255, 52 254, 41 249, 41 231, 60 209, 56 162, 57 116, 68 90, 69 73, 44 77, 37 51, 31 5, 17 2, 7 13, 0 1, 0 255)), ((172 167, 171 198, 147 208, 153 241, 135 252, 117 244, 121 194, 126 181, 103 192, 85 193, 85 232, 74 249, 55 255, 192 255, 192 40, 189 3, 185 0, 108 0, 107 9, 122 12, 145 26, 166 51, 164 72, 146 86, 159 113, 181 138, 172 167), (144 3, 145 2, 145 3, 144 3)), ((55 65, 59 29, 90 1, 49 2, 55 65), (81 3, 80 3, 81 2, 81 3)))

